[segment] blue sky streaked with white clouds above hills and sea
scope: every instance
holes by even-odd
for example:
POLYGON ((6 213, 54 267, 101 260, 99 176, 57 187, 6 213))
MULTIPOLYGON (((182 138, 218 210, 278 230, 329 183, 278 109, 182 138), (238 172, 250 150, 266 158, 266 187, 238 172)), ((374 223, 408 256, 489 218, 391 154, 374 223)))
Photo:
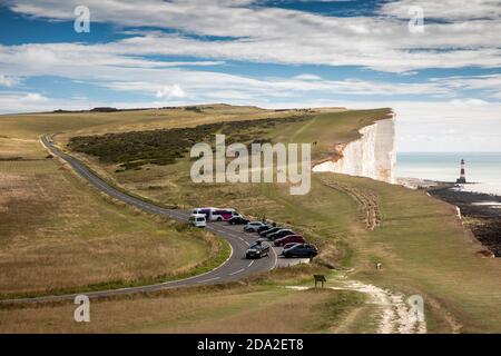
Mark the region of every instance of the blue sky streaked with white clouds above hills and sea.
POLYGON ((0 113, 392 107, 400 151, 501 151, 500 33, 498 0, 2 0, 0 113))

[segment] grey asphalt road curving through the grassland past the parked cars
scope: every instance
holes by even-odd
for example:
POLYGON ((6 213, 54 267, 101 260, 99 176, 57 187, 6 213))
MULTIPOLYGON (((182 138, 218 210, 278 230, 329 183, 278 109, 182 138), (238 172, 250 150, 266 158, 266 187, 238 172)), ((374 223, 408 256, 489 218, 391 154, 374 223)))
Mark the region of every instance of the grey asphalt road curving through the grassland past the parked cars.
MULTIPOLYGON (((76 158, 60 151, 53 146, 48 135, 40 138, 43 146, 51 151, 53 156, 57 156, 68 162, 72 169, 79 174, 82 178, 88 180, 96 189, 107 194, 108 196, 135 206, 148 212, 166 216, 179 221, 187 222, 189 217, 189 211, 178 210, 178 209, 166 209, 154 204, 144 201, 139 198, 129 196, 100 179, 98 176, 92 174, 76 158)), ((243 231, 242 226, 230 226, 227 222, 209 222, 206 227, 207 230, 213 231, 216 235, 225 238, 232 246, 232 255, 229 258, 219 267, 190 278, 173 280, 166 283, 159 283, 155 285, 147 285, 140 287, 120 288, 120 289, 109 289, 99 291, 88 291, 81 293, 87 295, 89 298, 108 297, 115 295, 130 294, 130 293, 141 293, 141 291, 155 291, 166 288, 183 287, 183 286, 200 286, 200 285, 213 285, 218 283, 227 283, 236 279, 240 279, 254 273, 266 271, 274 268, 278 258, 279 248, 272 248, 268 257, 263 257, 261 259, 248 260, 245 258, 245 251, 247 247, 257 239, 256 234, 246 234, 243 231)), ((288 259, 286 265, 296 264, 298 259, 288 259)), ((45 296, 36 298, 19 298, 11 300, 2 300, 2 303, 43 303, 43 301, 57 301, 65 299, 73 299, 79 294, 68 294, 68 295, 57 295, 57 296, 45 296)))

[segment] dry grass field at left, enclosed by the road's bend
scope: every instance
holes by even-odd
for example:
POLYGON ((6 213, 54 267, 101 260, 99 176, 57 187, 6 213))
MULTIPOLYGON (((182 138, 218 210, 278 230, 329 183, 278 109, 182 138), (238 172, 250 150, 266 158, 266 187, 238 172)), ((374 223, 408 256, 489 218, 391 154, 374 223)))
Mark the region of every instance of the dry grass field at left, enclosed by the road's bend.
POLYGON ((212 235, 108 200, 37 140, 1 144, 2 157, 24 158, 0 160, 2 297, 164 280, 218 256, 212 235))

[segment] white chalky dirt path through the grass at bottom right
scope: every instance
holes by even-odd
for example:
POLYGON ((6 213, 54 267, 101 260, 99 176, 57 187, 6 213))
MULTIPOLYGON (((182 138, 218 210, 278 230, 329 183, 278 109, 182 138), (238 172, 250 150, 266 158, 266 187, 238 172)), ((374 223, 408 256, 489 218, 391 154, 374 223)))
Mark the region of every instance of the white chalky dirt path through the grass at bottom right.
MULTIPOLYGON (((426 333, 424 314, 412 313, 413 308, 403 295, 356 280, 341 283, 336 280, 336 284, 338 287, 327 288, 335 290, 355 290, 367 295, 367 303, 374 305, 377 310, 377 329, 375 330, 377 334, 426 333)), ((287 288, 304 290, 310 287, 291 286, 287 288)))

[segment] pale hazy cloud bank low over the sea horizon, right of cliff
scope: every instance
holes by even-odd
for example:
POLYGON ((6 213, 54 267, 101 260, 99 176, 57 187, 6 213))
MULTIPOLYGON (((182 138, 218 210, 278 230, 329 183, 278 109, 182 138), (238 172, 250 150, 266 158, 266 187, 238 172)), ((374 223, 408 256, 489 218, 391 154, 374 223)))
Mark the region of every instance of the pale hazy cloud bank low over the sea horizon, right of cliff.
POLYGON ((372 102, 396 113, 400 151, 501 152, 501 102, 479 99, 440 102, 372 102), (451 129, 454 131, 451 132, 451 129))

